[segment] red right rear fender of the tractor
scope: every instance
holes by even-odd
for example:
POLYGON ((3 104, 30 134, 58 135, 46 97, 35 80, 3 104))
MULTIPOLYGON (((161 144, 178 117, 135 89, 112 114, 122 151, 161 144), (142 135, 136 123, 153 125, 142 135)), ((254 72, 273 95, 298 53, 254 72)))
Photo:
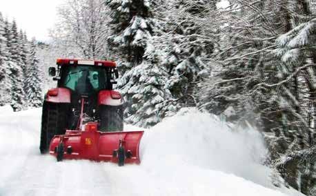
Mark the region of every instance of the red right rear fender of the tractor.
POLYGON ((121 106, 123 98, 121 94, 115 90, 101 90, 98 95, 98 106, 121 106))

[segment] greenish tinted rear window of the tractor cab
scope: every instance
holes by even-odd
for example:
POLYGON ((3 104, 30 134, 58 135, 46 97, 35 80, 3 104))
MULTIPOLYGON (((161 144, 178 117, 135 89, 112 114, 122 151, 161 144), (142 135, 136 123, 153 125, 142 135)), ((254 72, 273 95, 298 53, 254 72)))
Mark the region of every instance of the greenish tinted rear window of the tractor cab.
POLYGON ((70 88, 79 94, 111 89, 111 85, 107 82, 107 71, 108 68, 97 66, 64 66, 59 86, 70 88))

